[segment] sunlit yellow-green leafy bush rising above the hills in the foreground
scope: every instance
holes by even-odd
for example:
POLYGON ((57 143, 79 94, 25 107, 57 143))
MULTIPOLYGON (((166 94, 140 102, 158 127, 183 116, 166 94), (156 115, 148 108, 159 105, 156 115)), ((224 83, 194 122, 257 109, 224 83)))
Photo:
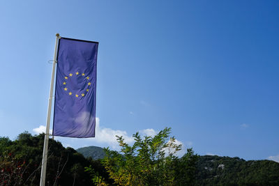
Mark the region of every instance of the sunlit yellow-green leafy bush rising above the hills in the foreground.
POLYGON ((105 149, 103 160, 110 178, 117 185, 191 185, 195 178, 197 156, 192 149, 178 158, 181 145, 169 138, 170 128, 160 131, 155 137, 133 135, 135 143, 129 146, 123 137, 117 137, 121 153, 105 149))

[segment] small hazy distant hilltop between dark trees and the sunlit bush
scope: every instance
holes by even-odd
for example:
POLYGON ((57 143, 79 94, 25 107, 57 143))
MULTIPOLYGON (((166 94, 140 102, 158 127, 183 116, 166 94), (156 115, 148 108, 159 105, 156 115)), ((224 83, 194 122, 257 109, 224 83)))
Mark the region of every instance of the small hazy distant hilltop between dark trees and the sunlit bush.
POLYGON ((83 148, 77 148, 77 152, 84 155, 84 157, 92 157, 93 160, 103 159, 105 157, 105 151, 98 146, 86 146, 83 148))

